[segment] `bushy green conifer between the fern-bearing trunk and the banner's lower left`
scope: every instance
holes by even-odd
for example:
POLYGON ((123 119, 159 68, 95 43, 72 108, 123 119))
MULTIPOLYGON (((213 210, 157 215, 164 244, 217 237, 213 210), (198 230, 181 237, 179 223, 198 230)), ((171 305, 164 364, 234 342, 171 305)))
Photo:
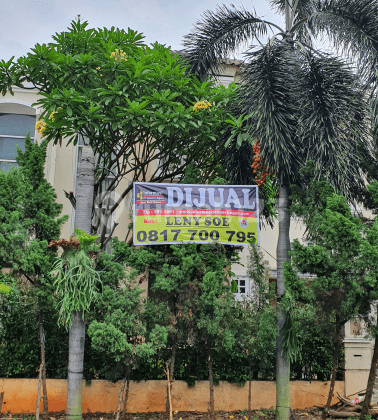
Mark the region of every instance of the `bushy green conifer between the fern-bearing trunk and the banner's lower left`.
MULTIPOLYGON (((123 257, 127 261, 128 248, 114 239, 113 251, 118 254, 115 259, 123 257)), ((154 357, 167 341, 167 329, 154 322, 155 316, 151 317, 159 308, 152 302, 146 305, 141 298, 142 290, 132 281, 135 273, 127 275, 124 266, 115 259, 108 262, 100 275, 106 278, 106 271, 114 273, 114 266, 122 287, 112 287, 114 282, 104 285, 102 299, 94 304, 88 327, 92 349, 106 354, 107 363, 113 364, 104 372, 106 378, 113 381, 125 375, 130 377, 131 369, 141 360, 154 357)), ((101 261, 100 265, 103 263, 101 261)))

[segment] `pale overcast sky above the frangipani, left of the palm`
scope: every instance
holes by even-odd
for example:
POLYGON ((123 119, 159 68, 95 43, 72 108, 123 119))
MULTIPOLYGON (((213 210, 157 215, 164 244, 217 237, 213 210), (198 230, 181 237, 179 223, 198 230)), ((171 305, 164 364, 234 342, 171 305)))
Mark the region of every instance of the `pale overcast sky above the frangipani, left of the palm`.
MULTIPOLYGON (((90 27, 130 27, 143 32, 147 43, 158 41, 181 49, 182 38, 216 0, 0 0, 0 59, 26 54, 67 29, 77 15, 90 27)), ((266 0, 230 0, 227 5, 255 8, 259 16, 280 24, 266 0)))

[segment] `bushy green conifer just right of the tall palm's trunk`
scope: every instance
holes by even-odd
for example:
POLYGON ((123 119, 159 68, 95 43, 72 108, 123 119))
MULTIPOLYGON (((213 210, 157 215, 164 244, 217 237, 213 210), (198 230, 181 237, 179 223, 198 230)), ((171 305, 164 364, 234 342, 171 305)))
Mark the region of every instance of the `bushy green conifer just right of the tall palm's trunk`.
MULTIPOLYGON (((303 216, 308 244, 294 241, 291 262, 284 264, 284 306, 294 308, 294 323, 296 316, 307 318, 307 325, 313 320, 307 332, 293 326, 293 331, 308 343, 313 339, 308 331, 314 338, 328 333, 329 341, 323 341, 319 351, 311 351, 309 345, 309 353, 316 353, 318 360, 313 363, 316 374, 324 378, 327 370, 316 367, 324 366, 319 363, 321 358, 324 362, 327 359, 322 354, 341 340, 347 321, 369 314, 371 303, 378 297, 378 225, 376 221, 372 226, 362 224, 344 197, 337 195, 327 181, 317 180, 312 165, 302 173, 302 189, 292 189, 292 210, 303 216), (298 273, 308 273, 311 278, 301 278, 298 273)), ((308 362, 304 360, 303 364, 310 371, 308 362)))

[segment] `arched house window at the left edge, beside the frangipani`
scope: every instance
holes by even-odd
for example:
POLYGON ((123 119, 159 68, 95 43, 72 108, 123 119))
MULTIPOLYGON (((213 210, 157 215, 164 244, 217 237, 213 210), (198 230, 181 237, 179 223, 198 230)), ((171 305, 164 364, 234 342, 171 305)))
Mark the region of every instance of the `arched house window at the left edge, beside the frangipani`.
MULTIPOLYGON (((12 165, 17 165, 16 157, 18 145, 22 151, 25 151, 25 137, 30 132, 30 137, 34 140, 35 133, 35 114, 28 115, 22 113, 5 112, 7 108, 11 108, 15 104, 2 104, 0 107, 0 169, 7 170, 12 165)), ((24 105, 18 108, 30 109, 24 105)), ((20 112, 20 110, 17 110, 20 112)))

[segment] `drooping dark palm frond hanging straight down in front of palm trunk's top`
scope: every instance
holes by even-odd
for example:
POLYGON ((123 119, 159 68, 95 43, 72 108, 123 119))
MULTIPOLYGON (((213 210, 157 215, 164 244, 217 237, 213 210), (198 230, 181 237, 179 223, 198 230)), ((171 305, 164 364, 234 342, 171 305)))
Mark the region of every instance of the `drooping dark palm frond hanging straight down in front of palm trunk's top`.
POLYGON ((264 164, 283 180, 294 180, 302 159, 297 138, 298 69, 295 50, 274 42, 247 55, 241 107, 250 116, 250 134, 260 139, 264 164))

